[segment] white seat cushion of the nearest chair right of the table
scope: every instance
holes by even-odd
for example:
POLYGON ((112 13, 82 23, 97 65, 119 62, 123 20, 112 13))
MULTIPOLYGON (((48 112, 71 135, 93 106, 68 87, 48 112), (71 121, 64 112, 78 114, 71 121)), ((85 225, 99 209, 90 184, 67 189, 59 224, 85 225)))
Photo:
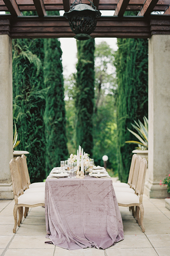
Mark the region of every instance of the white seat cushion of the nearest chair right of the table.
POLYGON ((118 203, 131 204, 139 203, 139 197, 134 193, 115 191, 118 203))

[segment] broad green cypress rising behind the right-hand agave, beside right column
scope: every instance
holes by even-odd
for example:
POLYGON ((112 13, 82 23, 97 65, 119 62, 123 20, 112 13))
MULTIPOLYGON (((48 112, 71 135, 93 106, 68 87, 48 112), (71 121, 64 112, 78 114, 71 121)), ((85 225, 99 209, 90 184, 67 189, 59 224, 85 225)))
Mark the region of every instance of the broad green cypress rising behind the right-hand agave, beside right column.
MULTIPOLYGON (((126 182, 129 175, 134 140, 127 128, 133 120, 148 117, 148 41, 147 39, 119 38, 115 53, 117 73, 118 173, 126 182)), ((135 139, 136 140, 136 139, 135 139)))

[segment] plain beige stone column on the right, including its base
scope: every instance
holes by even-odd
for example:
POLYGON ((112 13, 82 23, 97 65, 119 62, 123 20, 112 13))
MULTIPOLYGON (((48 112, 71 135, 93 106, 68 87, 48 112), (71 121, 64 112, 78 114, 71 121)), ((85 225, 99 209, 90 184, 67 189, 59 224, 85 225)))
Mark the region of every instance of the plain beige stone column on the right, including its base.
POLYGON ((170 172, 170 35, 149 39, 148 181, 145 193, 152 198, 170 197, 160 186, 170 172))

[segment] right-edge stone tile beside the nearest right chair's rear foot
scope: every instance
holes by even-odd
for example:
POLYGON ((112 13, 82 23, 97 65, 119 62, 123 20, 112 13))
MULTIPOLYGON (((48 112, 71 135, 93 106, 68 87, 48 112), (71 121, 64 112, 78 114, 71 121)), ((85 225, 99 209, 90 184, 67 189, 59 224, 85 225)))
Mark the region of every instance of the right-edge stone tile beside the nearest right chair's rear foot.
POLYGON ((170 234, 170 223, 149 223, 145 225, 146 235, 170 234))

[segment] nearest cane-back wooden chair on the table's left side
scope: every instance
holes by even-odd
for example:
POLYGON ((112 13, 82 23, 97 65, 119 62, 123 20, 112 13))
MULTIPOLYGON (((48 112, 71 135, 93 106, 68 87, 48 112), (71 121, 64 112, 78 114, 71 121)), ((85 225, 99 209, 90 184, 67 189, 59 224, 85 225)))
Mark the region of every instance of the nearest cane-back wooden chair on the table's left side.
POLYGON ((43 192, 24 193, 21 186, 21 178, 19 175, 18 163, 14 159, 11 159, 10 161, 10 170, 13 185, 13 194, 15 199, 15 206, 13 208, 13 217, 15 220, 13 233, 15 233, 17 227, 17 212, 19 215, 18 226, 20 226, 23 215, 23 207, 29 208, 36 206, 45 206, 45 197, 43 192))

